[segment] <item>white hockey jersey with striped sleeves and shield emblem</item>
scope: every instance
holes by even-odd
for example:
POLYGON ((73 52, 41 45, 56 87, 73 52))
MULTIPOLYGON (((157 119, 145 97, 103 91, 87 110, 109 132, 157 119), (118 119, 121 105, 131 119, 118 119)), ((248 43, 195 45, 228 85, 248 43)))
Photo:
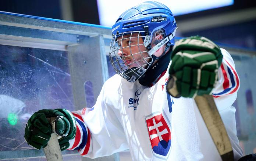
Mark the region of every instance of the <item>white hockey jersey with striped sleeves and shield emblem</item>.
MULTIPOLYGON (((231 105, 237 98, 239 78, 230 54, 221 51, 223 62, 213 96, 238 160, 242 150, 231 105)), ((172 98, 166 92, 168 77, 166 72, 150 88, 117 74, 109 78, 95 106, 73 112, 77 134, 69 149, 90 158, 129 149, 135 161, 221 160, 195 101, 172 98)))

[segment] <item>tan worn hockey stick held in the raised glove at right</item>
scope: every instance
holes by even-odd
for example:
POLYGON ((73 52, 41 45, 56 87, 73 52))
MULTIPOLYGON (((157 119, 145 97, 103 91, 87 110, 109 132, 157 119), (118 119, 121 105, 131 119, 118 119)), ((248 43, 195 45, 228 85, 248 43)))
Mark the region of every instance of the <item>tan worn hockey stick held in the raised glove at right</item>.
MULTIPOLYGON (((167 83, 167 90, 172 96, 178 97, 175 78, 170 78, 167 83)), ((221 159, 234 161, 233 149, 213 97, 211 95, 196 96, 195 102, 221 159)))

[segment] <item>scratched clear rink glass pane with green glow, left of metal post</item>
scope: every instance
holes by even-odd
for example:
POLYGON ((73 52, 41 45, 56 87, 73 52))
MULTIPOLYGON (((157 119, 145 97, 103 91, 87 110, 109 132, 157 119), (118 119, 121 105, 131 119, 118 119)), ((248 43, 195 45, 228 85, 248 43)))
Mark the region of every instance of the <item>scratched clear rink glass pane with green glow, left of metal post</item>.
POLYGON ((67 52, 0 45, 0 66, 0 150, 32 149, 24 127, 35 111, 74 110, 67 52))

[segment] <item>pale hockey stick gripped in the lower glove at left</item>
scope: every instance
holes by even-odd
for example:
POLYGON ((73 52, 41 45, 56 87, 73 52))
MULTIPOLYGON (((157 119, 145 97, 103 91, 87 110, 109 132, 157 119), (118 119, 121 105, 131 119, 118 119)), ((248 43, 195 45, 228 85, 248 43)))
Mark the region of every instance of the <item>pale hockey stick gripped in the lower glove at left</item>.
POLYGON ((47 161, 63 161, 61 151, 60 151, 60 145, 58 143, 57 134, 55 131, 55 121, 57 121, 58 118, 51 117, 50 123, 53 127, 53 133, 51 133, 51 138, 47 143, 47 146, 43 149, 45 151, 45 157, 47 161))

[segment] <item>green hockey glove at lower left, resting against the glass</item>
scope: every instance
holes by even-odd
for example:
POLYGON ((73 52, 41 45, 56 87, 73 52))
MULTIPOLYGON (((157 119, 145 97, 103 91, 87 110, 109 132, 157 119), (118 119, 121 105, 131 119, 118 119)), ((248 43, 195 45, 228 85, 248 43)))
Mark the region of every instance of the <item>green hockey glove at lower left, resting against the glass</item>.
POLYGON ((41 149, 46 147, 52 132, 59 135, 58 142, 61 151, 67 149, 68 140, 73 139, 76 133, 76 121, 73 114, 66 109, 39 110, 29 118, 24 138, 31 146, 41 149), (57 118, 54 123, 55 129, 52 129, 51 117, 57 118))

